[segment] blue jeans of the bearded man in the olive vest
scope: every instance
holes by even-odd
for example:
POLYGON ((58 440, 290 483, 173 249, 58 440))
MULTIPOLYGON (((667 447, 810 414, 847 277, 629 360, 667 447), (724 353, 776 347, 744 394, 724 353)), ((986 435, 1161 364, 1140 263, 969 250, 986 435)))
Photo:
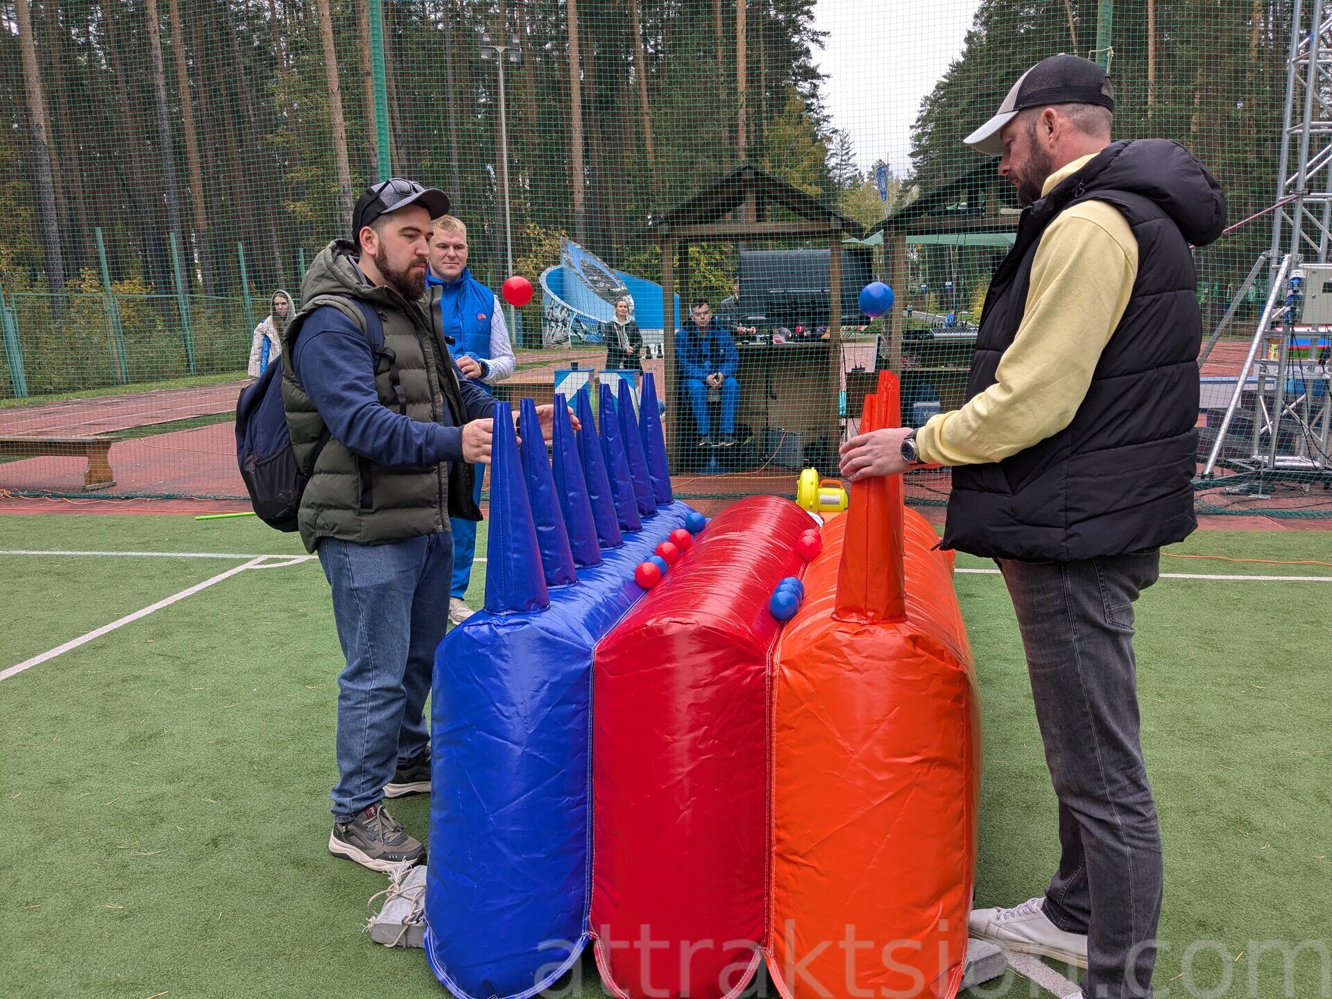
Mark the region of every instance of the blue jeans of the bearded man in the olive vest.
POLYGON ((337 678, 338 782, 330 797, 333 818, 349 822, 384 798, 398 763, 426 749, 425 698, 449 623, 453 539, 324 538, 318 553, 346 657, 337 678))

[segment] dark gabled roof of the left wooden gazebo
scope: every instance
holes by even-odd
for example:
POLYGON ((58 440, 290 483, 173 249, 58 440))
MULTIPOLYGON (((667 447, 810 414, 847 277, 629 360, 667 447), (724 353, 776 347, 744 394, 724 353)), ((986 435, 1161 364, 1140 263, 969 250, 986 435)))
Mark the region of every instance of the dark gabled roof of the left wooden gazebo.
POLYGON ((819 198, 753 164, 737 166, 693 197, 653 218, 647 236, 727 238, 757 236, 862 237, 864 226, 819 198), (746 205, 745 221, 723 221, 746 205), (773 209, 794 217, 770 218, 773 209))

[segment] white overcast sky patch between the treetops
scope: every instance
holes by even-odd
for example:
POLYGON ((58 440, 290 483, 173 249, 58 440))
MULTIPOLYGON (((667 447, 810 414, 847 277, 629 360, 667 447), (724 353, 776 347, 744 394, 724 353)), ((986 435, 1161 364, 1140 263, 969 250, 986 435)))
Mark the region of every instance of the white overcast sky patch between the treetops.
POLYGON ((920 99, 962 53, 979 0, 818 0, 814 24, 829 32, 815 51, 832 124, 850 133, 860 168, 886 159, 910 168, 920 99))

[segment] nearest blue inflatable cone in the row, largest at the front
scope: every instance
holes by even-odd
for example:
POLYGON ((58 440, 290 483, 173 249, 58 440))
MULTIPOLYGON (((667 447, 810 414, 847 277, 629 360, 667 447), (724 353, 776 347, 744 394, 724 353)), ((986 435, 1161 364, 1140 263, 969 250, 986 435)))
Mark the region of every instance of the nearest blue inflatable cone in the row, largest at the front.
POLYGON ((550 603, 537 553, 518 437, 506 402, 496 402, 490 445, 490 538, 486 545, 486 610, 514 614, 550 603))

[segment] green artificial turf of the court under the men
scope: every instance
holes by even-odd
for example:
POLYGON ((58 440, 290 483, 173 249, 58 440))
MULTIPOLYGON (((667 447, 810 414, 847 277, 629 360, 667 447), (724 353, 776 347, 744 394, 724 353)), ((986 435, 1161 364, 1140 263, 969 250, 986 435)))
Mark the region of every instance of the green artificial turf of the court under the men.
MULTIPOLYGON (((0 549, 302 553, 249 518, 120 515, 4 517, 0 549)), ((1179 550, 1332 562, 1332 533, 1200 533, 1179 550)), ((238 563, 0 557, 0 669, 238 563)), ((474 605, 482 582, 478 565, 474 605)), ((1055 801, 1003 582, 959 574, 956 586, 984 718, 978 902, 1012 904, 1040 894, 1055 863, 1055 801)), ((1139 603, 1168 995, 1192 980, 1195 994, 1276 999, 1280 955, 1255 966, 1255 950, 1332 947, 1329 598, 1332 583, 1164 579, 1139 603)), ((385 878, 326 852, 340 666, 328 586, 305 562, 245 571, 0 681, 0 992, 442 994, 421 951, 361 931, 385 878)), ((425 832, 424 798, 394 813, 425 832)), ((1300 951, 1293 995, 1323 994, 1317 956, 1300 951)), ((579 974, 570 994, 599 996, 591 966, 579 974)))

